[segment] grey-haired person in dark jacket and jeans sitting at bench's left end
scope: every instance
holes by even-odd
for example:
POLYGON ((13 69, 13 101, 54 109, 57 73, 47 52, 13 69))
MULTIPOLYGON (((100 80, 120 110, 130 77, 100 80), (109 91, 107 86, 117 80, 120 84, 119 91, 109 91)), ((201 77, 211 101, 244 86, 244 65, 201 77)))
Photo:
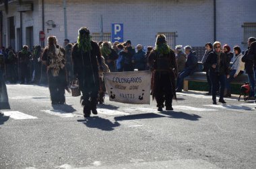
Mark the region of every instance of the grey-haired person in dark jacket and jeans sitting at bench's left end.
POLYGON ((192 75, 197 69, 197 57, 195 57, 192 52, 191 46, 185 46, 185 54, 187 55, 187 60, 185 63, 185 69, 181 71, 177 77, 177 89, 176 92, 182 92, 183 80, 185 77, 192 75))

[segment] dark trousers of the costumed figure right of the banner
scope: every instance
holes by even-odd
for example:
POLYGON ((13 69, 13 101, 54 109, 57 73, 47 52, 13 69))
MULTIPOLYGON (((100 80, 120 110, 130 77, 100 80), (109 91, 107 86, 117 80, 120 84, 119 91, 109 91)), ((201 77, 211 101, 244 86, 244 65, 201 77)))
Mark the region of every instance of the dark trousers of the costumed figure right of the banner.
POLYGON ((170 73, 154 73, 154 96, 156 98, 157 106, 172 106, 172 81, 170 73))

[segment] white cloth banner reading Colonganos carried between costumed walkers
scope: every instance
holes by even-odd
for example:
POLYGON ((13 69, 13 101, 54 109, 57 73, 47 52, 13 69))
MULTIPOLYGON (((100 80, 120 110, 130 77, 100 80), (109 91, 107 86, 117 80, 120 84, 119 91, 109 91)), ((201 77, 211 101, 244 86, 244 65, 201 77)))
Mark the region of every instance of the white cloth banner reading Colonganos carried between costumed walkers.
POLYGON ((150 104, 150 71, 104 73, 109 100, 128 104, 150 104))

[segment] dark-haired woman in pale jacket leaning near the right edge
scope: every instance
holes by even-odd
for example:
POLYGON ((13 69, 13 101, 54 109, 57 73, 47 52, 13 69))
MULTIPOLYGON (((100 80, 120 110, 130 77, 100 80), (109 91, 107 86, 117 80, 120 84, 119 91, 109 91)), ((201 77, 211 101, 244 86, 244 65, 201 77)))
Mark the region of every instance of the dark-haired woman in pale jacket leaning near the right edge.
POLYGON ((236 78, 238 75, 243 74, 245 70, 245 63, 242 61, 243 54, 241 53, 241 48, 239 46, 234 46, 234 57, 232 58, 232 67, 230 68, 230 77, 226 81, 226 96, 231 97, 231 86, 230 82, 232 79, 236 78))

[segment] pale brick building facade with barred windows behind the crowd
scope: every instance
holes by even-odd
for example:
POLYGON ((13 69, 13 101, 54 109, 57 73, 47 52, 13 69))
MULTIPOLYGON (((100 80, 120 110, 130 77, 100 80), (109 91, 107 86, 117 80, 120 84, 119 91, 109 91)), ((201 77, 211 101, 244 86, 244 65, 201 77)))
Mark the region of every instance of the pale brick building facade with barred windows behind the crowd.
MULTIPOLYGON (((22 24, 17 1, 10 1, 8 13, 1 5, 0 46, 20 50, 23 44, 41 44, 41 30, 46 37, 57 36, 62 44, 64 1, 24 0, 23 3, 32 3, 33 9, 22 12, 22 24)), ((156 34, 164 33, 172 47, 204 46, 206 42, 219 40, 245 49, 246 39, 256 36, 255 9, 255 0, 66 0, 67 38, 75 42, 77 30, 86 26, 94 40, 110 40, 111 24, 119 23, 124 26, 124 40, 131 40, 133 46, 154 46, 156 34)))

